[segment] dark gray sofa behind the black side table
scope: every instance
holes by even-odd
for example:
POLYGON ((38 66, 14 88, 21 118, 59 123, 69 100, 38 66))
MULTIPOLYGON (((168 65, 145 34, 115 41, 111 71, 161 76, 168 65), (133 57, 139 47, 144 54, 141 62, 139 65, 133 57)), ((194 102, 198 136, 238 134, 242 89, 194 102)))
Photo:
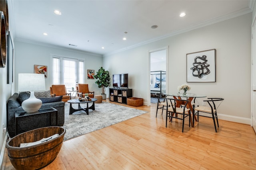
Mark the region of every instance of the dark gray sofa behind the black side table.
MULTIPOLYGON (((49 92, 50 94, 50 92, 49 92)), ((30 95, 30 94, 29 94, 30 95)), ((20 95, 21 96, 21 95, 20 95)), ((12 138, 15 136, 15 111, 21 107, 21 99, 18 96, 18 93, 14 93, 7 101, 6 109, 7 109, 7 126, 8 126, 8 134, 12 138)), ((36 96, 36 93, 35 93, 36 96)), ((29 97, 29 96, 28 96, 29 97)), ((26 97, 26 98, 28 98, 26 97)), ((36 96, 37 97, 37 96, 36 96)), ((42 97, 42 96, 41 96, 42 97)), ((24 98, 23 98, 24 99, 24 98)), ((64 106, 65 102, 59 101, 58 98, 40 98, 43 102, 42 107, 54 107, 58 110, 58 125, 64 125, 64 106)), ((61 97, 62 99, 62 97, 61 97)), ((26 99, 24 99, 26 100, 26 99)), ((56 125, 56 115, 52 114, 51 117, 52 125, 56 125)), ((49 115, 43 114, 32 117, 23 117, 18 122, 18 134, 23 133, 32 129, 36 129, 39 127, 47 127, 49 126, 49 115)))

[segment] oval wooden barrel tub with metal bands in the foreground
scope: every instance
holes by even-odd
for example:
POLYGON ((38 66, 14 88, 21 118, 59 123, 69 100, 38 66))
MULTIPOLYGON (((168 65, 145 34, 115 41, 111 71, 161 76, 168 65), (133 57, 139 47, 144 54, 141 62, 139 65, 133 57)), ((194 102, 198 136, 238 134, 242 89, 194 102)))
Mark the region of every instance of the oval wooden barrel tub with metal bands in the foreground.
POLYGON ((6 143, 10 162, 17 170, 36 170, 47 166, 58 155, 65 133, 63 127, 42 127, 15 136, 6 143), (55 134, 59 136, 50 141, 19 147, 20 143, 40 141, 55 134))

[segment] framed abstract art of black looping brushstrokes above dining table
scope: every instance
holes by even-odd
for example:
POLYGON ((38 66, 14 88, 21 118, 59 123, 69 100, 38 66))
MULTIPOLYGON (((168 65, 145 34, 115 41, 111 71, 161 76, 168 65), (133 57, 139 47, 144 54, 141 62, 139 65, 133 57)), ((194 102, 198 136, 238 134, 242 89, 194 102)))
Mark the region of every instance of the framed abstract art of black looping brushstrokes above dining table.
POLYGON ((216 82, 215 49, 187 54, 187 82, 216 82))

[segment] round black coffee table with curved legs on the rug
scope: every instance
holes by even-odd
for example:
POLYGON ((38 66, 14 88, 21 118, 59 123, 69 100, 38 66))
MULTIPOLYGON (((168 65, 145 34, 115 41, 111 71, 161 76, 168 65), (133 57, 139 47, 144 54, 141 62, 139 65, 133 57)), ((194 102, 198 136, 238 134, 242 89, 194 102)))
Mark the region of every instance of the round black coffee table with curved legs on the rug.
POLYGON ((69 114, 72 115, 74 112, 76 111, 80 111, 83 110, 86 112, 86 114, 89 114, 89 109, 95 110, 95 106, 94 106, 94 102, 97 101, 97 99, 91 98, 91 101, 84 101, 84 102, 80 102, 78 99, 71 99, 68 100, 68 103, 70 103, 70 107, 69 107, 69 114), (88 107, 88 104, 92 102, 92 106, 88 107), (86 108, 82 108, 80 106, 80 103, 87 103, 87 107, 86 108), (74 109, 72 107, 72 104, 78 104, 78 109, 74 109))

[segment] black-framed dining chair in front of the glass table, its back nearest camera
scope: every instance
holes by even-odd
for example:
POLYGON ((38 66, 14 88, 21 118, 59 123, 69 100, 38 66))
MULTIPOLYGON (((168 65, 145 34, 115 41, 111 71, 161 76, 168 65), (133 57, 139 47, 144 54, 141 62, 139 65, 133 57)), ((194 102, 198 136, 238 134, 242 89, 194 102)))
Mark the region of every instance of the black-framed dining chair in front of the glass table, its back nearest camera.
POLYGON ((166 125, 165 125, 165 127, 167 127, 168 117, 171 122, 172 122, 173 118, 182 120, 182 132, 184 131, 185 118, 189 117, 189 127, 190 127, 191 112, 190 112, 190 109, 187 108, 188 102, 190 102, 190 100, 166 98, 166 125), (176 107, 176 106, 180 105, 179 103, 183 103, 184 107, 176 107), (178 117, 178 115, 182 115, 182 116, 178 117))

